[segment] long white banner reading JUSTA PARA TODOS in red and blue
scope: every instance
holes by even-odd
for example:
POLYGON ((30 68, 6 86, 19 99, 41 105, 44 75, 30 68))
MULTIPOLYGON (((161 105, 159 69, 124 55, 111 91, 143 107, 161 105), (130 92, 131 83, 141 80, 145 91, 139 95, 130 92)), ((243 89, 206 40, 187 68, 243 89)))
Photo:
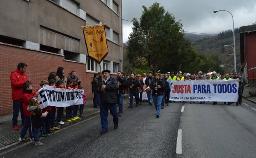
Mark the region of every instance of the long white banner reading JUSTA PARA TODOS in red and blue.
POLYGON ((170 101, 238 101, 238 79, 173 81, 170 101))

